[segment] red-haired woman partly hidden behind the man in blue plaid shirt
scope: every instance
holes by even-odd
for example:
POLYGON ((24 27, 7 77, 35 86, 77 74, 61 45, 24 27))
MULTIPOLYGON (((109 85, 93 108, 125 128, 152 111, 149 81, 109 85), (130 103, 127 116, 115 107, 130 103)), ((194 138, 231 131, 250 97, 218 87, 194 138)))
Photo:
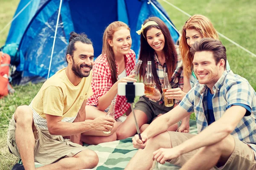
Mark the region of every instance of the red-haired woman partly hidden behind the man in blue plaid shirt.
MULTIPOLYGON (((183 61, 184 70, 184 88, 183 91, 189 91, 194 87, 197 78, 193 71, 193 56, 189 52, 191 46, 195 41, 200 41, 202 38, 214 38, 218 40, 218 34, 213 27, 211 21, 204 15, 193 15, 190 17, 182 29, 182 36, 180 40, 180 54, 183 61)), ((230 70, 227 62, 227 70, 230 70)), ((184 95, 185 96, 185 95, 184 95)), ((172 97, 170 95, 170 97, 172 97)))

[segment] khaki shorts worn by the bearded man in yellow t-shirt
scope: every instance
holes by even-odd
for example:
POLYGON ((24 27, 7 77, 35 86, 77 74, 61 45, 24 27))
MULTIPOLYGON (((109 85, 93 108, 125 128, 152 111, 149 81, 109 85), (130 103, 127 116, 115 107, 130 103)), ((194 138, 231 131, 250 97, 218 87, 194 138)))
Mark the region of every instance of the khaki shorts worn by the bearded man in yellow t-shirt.
MULTIPOLYGON (((16 122, 13 115, 9 122, 7 145, 10 153, 20 158, 15 139, 15 130, 16 122)), ((33 132, 35 136, 35 162, 40 164, 52 164, 59 159, 73 157, 82 150, 87 149, 80 144, 75 144, 67 140, 64 141, 62 136, 52 136, 48 130, 40 129, 36 124, 33 124, 33 132)), ((26 136, 24 136, 24 138, 26 138, 26 136)))

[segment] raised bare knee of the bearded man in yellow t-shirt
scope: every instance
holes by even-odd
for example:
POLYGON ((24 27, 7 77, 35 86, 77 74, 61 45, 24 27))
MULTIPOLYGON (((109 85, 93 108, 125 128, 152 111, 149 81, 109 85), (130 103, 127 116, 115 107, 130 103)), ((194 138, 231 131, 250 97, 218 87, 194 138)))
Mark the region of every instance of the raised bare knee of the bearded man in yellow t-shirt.
POLYGON ((19 124, 30 125, 33 122, 33 111, 27 105, 18 106, 14 116, 19 124))

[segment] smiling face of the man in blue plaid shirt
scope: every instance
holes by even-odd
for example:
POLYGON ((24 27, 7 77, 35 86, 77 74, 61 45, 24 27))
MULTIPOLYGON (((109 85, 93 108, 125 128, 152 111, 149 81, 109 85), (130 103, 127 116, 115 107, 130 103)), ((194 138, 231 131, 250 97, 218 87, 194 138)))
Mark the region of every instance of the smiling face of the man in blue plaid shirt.
POLYGON ((193 65, 198 82, 212 89, 224 72, 224 64, 224 59, 216 64, 212 51, 195 52, 193 65))

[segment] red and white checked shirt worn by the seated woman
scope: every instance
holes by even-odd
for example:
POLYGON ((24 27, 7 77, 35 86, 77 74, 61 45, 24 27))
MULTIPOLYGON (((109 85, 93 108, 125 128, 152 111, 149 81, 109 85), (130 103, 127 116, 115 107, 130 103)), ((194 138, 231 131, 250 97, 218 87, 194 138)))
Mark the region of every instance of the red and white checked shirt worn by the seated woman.
MULTIPOLYGON (((128 54, 125 55, 125 71, 126 75, 129 75, 130 72, 135 67, 135 53, 131 49, 128 54)), ((116 68, 118 71, 118 65, 116 63, 116 68)), ((98 101, 101 96, 106 94, 109 89, 112 87, 111 81, 111 71, 107 62, 105 54, 101 54, 94 62, 93 65, 93 79, 92 79, 92 89, 93 96, 87 100, 87 105, 96 105, 98 106, 98 101)), ((130 107, 130 104, 126 102, 125 96, 116 96, 116 105, 115 105, 115 119, 122 116, 125 111, 130 107)))

